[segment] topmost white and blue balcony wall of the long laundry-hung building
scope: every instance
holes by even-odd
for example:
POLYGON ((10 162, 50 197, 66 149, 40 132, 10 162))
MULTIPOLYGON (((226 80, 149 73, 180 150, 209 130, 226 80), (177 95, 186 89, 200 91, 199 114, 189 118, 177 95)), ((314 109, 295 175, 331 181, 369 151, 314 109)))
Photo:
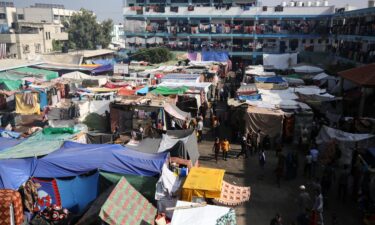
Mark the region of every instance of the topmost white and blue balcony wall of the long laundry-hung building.
POLYGON ((275 10, 276 7, 250 7, 244 10, 241 7, 230 7, 217 9, 215 7, 189 7, 159 8, 157 12, 146 7, 133 6, 124 7, 123 14, 128 18, 319 18, 330 17, 334 14, 333 6, 322 7, 284 7, 282 11, 275 10), (171 10, 172 8, 172 10, 171 10))

